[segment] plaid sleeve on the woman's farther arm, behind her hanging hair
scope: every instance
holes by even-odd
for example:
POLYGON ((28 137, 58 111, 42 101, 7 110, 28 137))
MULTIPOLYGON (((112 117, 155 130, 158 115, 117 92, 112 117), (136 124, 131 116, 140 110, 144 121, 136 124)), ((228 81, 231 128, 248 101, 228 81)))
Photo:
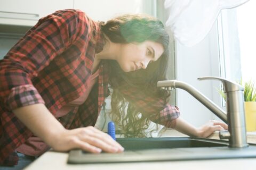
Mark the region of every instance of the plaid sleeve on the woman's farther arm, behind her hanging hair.
POLYGON ((175 128, 176 119, 180 116, 178 107, 165 104, 161 98, 146 95, 140 90, 129 87, 122 88, 121 92, 129 102, 135 105, 139 112, 151 121, 167 128, 175 128))

